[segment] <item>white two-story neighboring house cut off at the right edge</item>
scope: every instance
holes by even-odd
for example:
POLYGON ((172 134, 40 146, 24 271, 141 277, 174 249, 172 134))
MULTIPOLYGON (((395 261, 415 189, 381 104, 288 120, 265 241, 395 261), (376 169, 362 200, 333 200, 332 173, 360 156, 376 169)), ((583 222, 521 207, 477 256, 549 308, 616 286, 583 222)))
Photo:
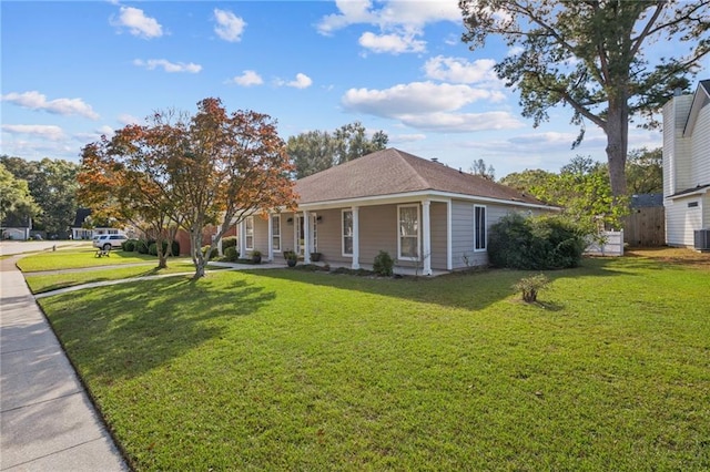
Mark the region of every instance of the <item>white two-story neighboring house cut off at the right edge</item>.
POLYGON ((710 230, 710 80, 663 106, 663 206, 669 246, 710 230))

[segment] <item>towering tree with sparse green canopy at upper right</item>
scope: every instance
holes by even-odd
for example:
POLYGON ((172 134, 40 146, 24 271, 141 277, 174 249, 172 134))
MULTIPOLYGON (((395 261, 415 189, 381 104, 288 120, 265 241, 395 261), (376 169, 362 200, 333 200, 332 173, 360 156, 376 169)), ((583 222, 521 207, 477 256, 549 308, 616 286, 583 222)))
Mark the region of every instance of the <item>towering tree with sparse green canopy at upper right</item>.
POLYGON ((537 126, 558 104, 607 135, 615 196, 626 195, 629 121, 651 117, 676 88, 688 89, 710 51, 710 0, 459 0, 471 49, 503 37, 510 54, 495 70, 520 92, 523 115, 537 126), (677 54, 649 58, 658 41, 677 41, 677 54))

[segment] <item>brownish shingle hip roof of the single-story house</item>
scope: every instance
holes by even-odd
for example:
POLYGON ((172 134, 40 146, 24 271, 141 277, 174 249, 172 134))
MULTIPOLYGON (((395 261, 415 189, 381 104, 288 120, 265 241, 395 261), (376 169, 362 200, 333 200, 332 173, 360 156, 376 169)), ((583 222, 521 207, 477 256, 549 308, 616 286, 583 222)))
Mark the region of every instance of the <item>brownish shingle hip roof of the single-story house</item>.
POLYGON ((515 188, 392 147, 296 182, 301 204, 423 191, 542 205, 515 188))

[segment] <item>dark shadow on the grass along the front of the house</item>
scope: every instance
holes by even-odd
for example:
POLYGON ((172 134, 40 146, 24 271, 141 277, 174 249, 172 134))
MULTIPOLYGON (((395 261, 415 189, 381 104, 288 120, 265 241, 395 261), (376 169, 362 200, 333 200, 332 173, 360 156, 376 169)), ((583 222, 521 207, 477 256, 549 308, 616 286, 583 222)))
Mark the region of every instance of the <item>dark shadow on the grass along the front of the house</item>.
MULTIPOLYGON (((255 276, 274 277, 284 280, 326 286, 344 290, 357 290, 386 297, 398 297, 425 304, 480 310, 515 294, 513 285, 523 277, 539 271, 510 269, 480 269, 456 271, 438 277, 373 277, 354 276, 324 271, 293 269, 270 269, 250 271, 255 276)), ((585 260, 581 267, 564 270, 546 270, 550 280, 569 277, 613 277, 626 275, 615 270, 609 259, 585 260)), ((560 311, 564 306, 546 307, 560 311)))

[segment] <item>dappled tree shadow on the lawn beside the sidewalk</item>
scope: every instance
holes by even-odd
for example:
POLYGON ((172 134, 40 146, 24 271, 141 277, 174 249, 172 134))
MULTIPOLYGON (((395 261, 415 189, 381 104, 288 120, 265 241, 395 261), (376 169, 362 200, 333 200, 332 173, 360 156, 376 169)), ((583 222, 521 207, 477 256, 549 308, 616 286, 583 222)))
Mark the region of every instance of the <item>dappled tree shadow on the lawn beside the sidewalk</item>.
POLYGON ((234 317, 275 297, 244 280, 171 277, 40 300, 82 377, 115 381, 169 363, 220 337, 234 317))

